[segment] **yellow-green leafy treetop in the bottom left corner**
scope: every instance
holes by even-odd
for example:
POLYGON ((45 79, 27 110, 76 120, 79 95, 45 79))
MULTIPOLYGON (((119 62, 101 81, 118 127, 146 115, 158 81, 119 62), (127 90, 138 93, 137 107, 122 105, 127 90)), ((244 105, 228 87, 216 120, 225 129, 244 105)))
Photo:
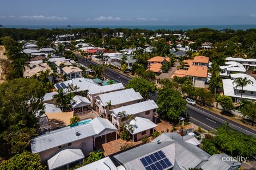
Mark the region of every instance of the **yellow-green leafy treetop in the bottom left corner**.
POLYGON ((30 152, 23 152, 21 154, 17 154, 10 158, 7 161, 3 161, 0 164, 0 169, 2 170, 11 170, 11 169, 19 169, 19 170, 27 170, 27 169, 38 169, 44 170, 45 166, 41 165, 41 160, 39 154, 32 154, 30 152))

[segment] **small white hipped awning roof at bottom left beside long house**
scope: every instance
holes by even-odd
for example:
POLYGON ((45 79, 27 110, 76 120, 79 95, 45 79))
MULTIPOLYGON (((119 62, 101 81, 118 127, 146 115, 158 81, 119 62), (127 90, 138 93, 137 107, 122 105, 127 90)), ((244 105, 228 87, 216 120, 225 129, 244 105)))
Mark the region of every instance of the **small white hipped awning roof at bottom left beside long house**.
POLYGON ((47 160, 50 170, 56 169, 69 163, 76 162, 84 158, 83 152, 79 148, 63 148, 59 150, 51 159, 47 160))

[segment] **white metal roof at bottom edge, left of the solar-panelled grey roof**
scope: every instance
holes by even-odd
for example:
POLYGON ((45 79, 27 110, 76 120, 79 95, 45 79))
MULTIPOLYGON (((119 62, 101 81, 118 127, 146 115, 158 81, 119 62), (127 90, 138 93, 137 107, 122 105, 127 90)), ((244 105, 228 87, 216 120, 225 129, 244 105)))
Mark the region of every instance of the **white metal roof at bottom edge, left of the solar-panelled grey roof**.
POLYGON ((76 170, 118 170, 118 168, 114 165, 109 157, 106 157, 82 166, 76 170))

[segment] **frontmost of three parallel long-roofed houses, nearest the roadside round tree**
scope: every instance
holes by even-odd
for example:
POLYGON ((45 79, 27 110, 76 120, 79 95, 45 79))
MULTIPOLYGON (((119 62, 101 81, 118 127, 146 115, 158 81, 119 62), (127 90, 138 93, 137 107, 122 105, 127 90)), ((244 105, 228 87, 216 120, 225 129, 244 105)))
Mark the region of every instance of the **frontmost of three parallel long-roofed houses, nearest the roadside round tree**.
MULTIPOLYGON (((156 115, 156 109, 158 108, 154 100, 147 100, 131 105, 121 106, 110 110, 112 116, 112 124, 120 130, 120 127, 124 124, 126 116, 133 115, 134 117, 143 117, 153 121, 153 116, 156 115), (123 117, 120 117, 120 113, 124 112, 123 117)), ((156 119, 155 119, 156 120, 156 119)))

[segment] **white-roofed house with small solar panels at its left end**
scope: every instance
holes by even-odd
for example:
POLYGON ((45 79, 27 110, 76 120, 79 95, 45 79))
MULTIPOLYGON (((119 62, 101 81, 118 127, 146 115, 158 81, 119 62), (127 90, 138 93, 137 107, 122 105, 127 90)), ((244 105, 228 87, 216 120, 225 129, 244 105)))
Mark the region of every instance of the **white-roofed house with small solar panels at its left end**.
POLYGON ((56 90, 58 89, 63 89, 64 93, 70 93, 68 90, 69 85, 77 86, 77 90, 75 90, 75 93, 84 93, 86 94, 88 89, 90 87, 100 87, 100 85, 97 85, 96 83, 93 82, 92 79, 87 79, 87 78, 76 78, 76 79, 71 79, 67 81, 63 81, 57 84, 54 84, 54 87, 56 90))

